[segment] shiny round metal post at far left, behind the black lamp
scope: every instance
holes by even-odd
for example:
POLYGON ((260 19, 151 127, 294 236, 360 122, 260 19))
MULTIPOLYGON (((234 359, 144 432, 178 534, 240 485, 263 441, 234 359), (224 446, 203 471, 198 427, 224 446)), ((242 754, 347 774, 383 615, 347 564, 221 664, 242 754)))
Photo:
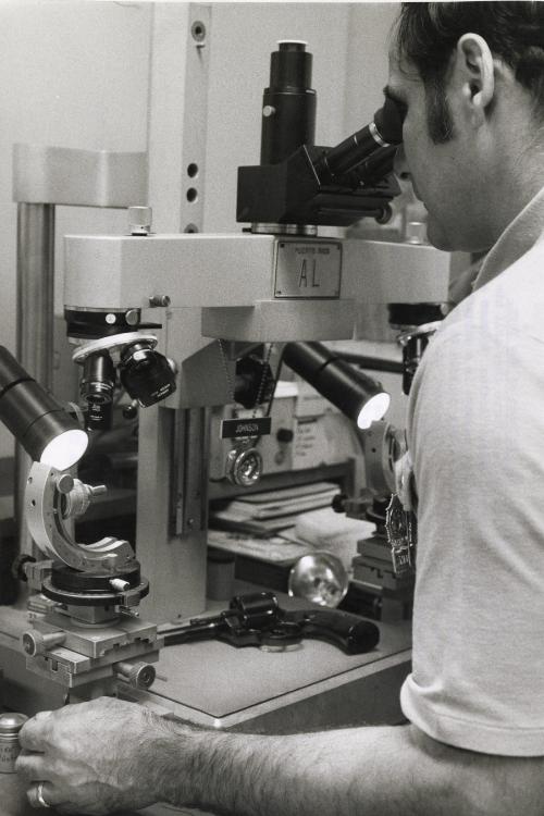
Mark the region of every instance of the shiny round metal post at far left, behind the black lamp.
MULTIPOLYGON (((54 206, 17 206, 16 357, 45 388, 53 381, 54 206)), ((18 552, 32 552, 23 514, 29 457, 15 446, 15 518, 18 552)))

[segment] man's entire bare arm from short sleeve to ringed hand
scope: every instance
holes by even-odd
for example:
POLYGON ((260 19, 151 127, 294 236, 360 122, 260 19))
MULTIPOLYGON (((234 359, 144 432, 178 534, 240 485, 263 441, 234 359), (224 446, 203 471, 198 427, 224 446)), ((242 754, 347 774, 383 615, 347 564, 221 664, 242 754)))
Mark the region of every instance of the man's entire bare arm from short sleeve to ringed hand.
POLYGON ((543 756, 463 751, 413 726, 225 733, 101 697, 38 714, 21 743, 34 804, 41 782, 63 814, 163 801, 230 816, 542 816, 544 800, 543 756))

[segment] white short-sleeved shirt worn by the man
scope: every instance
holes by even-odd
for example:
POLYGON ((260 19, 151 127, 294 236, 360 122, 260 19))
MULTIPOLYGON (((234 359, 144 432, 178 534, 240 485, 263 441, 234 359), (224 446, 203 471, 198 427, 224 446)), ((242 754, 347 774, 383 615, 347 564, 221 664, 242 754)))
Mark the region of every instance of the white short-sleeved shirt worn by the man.
POLYGON ((413 668, 401 706, 450 745, 544 755, 544 190, 423 355, 413 668))

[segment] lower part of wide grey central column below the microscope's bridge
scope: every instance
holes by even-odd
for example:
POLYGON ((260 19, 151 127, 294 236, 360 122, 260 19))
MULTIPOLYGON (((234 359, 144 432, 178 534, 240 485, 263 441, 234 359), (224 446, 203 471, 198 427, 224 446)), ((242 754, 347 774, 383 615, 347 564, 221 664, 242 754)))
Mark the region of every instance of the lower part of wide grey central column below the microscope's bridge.
POLYGON ((206 607, 209 410, 140 411, 136 557, 151 591, 141 615, 163 623, 206 607))

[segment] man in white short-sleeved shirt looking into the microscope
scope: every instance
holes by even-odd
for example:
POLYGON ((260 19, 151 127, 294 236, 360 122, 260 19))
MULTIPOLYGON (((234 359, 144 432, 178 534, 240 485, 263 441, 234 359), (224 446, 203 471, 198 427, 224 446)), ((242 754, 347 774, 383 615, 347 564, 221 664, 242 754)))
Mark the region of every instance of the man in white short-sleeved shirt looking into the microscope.
POLYGON ((412 386, 410 724, 217 733, 99 700, 21 733, 37 803, 239 816, 544 809, 544 5, 409 3, 386 92, 443 249, 490 250, 412 386), (542 191, 541 191, 542 190, 542 191))

